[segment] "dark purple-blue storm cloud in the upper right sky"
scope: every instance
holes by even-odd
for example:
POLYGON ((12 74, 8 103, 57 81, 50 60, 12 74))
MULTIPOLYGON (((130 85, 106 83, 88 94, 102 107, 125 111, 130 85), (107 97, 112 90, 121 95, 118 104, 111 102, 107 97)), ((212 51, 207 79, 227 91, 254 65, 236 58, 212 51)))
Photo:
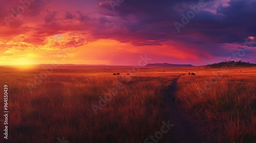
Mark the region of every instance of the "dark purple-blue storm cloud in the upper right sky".
MULTIPOLYGON (((212 4, 209 2, 205 1, 206 5, 212 4)), ((188 6, 198 3, 198 0, 124 1, 120 6, 115 7, 114 12, 109 9, 109 13, 105 13, 119 17, 122 22, 104 21, 104 23, 115 22, 116 26, 121 23, 123 28, 129 30, 127 34, 134 33, 139 39, 179 40, 180 35, 197 33, 194 36, 198 36, 198 40, 202 38, 204 42, 233 43, 244 42, 248 36, 256 35, 255 1, 230 1, 227 7, 218 6, 216 13, 201 10, 195 18, 190 19, 185 28, 180 29, 181 33, 178 33, 174 21, 181 23, 181 14, 186 15, 190 10, 188 6), (207 41, 205 37, 208 37, 207 41)), ((110 5, 105 3, 103 7, 110 8, 110 5)), ((186 42, 186 39, 181 40, 186 42)))

